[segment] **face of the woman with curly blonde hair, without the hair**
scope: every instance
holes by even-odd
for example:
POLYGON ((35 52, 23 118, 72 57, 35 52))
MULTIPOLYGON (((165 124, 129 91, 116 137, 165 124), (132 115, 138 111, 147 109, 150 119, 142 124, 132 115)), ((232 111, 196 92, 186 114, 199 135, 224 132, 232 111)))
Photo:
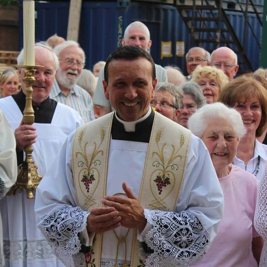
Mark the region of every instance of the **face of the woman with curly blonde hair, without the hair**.
POLYGON ((220 86, 218 80, 211 79, 208 77, 203 77, 198 80, 198 85, 203 91, 204 97, 207 99, 207 103, 217 102, 220 93, 220 86))

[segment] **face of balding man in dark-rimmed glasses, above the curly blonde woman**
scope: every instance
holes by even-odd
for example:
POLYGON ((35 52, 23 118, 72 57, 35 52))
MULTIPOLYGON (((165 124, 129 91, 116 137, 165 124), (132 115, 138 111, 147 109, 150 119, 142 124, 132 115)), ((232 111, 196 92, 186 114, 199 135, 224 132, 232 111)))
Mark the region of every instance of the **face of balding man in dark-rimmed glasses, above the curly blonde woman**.
POLYGON ((194 48, 189 52, 186 60, 188 74, 191 75, 192 71, 194 71, 198 65, 207 66, 208 61, 206 61, 206 55, 203 49, 194 48))

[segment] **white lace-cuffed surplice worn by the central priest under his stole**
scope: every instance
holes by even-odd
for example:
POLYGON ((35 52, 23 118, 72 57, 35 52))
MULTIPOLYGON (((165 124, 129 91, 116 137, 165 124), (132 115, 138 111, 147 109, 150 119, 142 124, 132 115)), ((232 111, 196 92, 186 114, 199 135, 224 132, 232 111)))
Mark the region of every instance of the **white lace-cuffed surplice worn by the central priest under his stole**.
MULTIPOLYGON (((83 266, 78 260, 82 260, 82 257, 79 257, 80 253, 77 254, 80 249, 80 240, 88 246, 92 243, 92 236, 89 236, 90 240, 86 242, 85 227, 89 212, 77 207, 78 201, 72 176, 73 136, 73 134, 69 135, 62 146, 57 160, 46 173, 45 179, 43 179, 37 189, 35 214, 39 228, 52 241, 50 244, 59 258, 63 259, 67 266, 83 266), (49 184, 52 182, 54 187, 49 187, 49 184), (53 233, 51 229, 54 229, 53 233), (79 240, 78 234, 81 232, 79 240), (73 256, 74 261, 71 259, 73 254, 76 254, 73 256)), ((123 193, 121 184, 123 181, 126 181, 133 193, 138 196, 147 147, 147 143, 111 139, 107 171, 107 195, 123 193)), ((192 261, 200 259, 208 246, 199 245, 199 240, 202 240, 203 243, 210 243, 213 240, 218 231, 218 222, 222 218, 222 213, 223 193, 208 150, 200 139, 192 135, 184 182, 175 212, 145 209, 147 225, 142 233, 138 233, 138 240, 141 242, 146 241, 151 245, 152 249, 156 250, 157 245, 151 242, 153 239, 152 235, 156 234, 158 240, 164 239, 160 235, 162 220, 159 220, 159 217, 165 217, 167 221, 170 221, 170 227, 175 226, 177 228, 177 240, 180 238, 181 243, 184 242, 185 247, 190 246, 188 244, 192 242, 191 237, 194 237, 193 243, 195 242, 195 246, 193 244, 191 251, 187 251, 188 257, 195 253, 196 257, 192 257, 192 261), (193 228, 195 230, 194 233, 192 233, 193 228), (198 240, 198 242, 195 240, 198 240)), ((123 227, 116 228, 115 231, 118 236, 125 236, 127 233, 127 229, 123 227)), ((175 231, 174 228, 172 228, 171 232, 173 231, 175 231)), ((131 238, 132 230, 130 229, 126 238, 127 264, 130 264, 131 238)), ((162 243, 164 241, 166 240, 162 240, 162 243)), ((171 238, 169 241, 170 244, 173 243, 171 238)), ((112 230, 103 234, 102 267, 114 265, 117 243, 112 230)), ((168 243, 168 240, 165 243, 168 243)), ((120 244, 118 266, 121 266, 123 263, 124 251, 124 244, 120 244)), ((163 266, 184 266, 186 262, 190 262, 190 259, 186 259, 187 256, 184 253, 186 249, 178 249, 171 245, 171 251, 170 255, 167 255, 170 256, 169 261, 167 260, 163 263, 158 261, 157 263, 163 266)), ((145 253, 142 253, 142 249, 139 250, 139 255, 141 258, 145 256, 145 253)), ((157 255, 151 260, 156 258, 157 255)), ((153 264, 150 263, 147 266, 153 266, 153 264)))

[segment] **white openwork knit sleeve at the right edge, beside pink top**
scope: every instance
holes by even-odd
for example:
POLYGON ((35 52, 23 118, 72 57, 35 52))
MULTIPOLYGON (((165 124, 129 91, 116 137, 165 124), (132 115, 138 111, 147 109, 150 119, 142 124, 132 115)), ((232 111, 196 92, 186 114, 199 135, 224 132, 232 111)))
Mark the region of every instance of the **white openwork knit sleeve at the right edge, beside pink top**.
POLYGON ((264 238, 264 247, 260 255, 259 266, 265 267, 267 266, 267 167, 259 183, 254 227, 259 235, 264 238))

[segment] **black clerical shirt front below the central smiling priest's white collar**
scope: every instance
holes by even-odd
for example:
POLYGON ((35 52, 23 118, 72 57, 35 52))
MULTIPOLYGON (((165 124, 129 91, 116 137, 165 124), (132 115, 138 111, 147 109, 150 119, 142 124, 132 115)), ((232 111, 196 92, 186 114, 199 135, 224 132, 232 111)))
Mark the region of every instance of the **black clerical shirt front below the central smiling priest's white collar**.
POLYGON ((135 132, 126 131, 125 122, 121 121, 116 115, 113 116, 111 126, 112 139, 149 143, 154 116, 154 111, 149 109, 143 118, 134 122, 135 132))

